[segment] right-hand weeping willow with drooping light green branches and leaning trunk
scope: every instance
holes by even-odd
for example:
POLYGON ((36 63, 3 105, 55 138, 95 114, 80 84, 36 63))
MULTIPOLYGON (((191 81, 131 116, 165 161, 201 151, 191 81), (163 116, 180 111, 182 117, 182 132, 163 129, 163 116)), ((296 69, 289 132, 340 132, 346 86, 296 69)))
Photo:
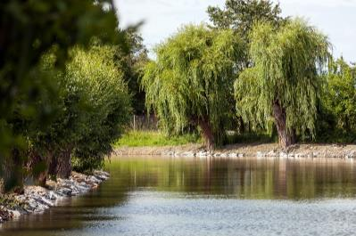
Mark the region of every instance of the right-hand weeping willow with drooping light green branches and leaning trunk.
POLYGON ((314 137, 329 46, 326 36, 301 19, 278 28, 257 24, 250 47, 254 67, 235 84, 238 112, 255 125, 273 120, 282 147, 295 142, 296 132, 314 137))

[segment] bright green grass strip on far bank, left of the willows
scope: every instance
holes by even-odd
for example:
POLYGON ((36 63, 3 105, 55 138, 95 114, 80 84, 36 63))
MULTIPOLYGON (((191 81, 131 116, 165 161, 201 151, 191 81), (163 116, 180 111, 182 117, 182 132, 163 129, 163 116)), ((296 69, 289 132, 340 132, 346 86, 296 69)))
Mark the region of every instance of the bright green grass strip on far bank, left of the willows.
POLYGON ((188 143, 201 143, 197 134, 183 134, 180 136, 166 136, 159 131, 128 131, 124 134, 115 147, 159 147, 177 146, 188 143))

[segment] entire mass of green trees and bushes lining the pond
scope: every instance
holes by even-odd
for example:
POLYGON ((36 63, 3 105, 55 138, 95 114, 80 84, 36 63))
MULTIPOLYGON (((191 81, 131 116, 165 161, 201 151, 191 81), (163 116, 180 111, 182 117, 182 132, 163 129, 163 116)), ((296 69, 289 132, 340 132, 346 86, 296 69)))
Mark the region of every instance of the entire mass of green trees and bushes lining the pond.
POLYGON ((1 191, 102 167, 115 143, 138 145, 134 114, 168 137, 148 145, 356 141, 356 67, 333 58, 325 34, 271 1, 207 12, 210 23, 182 26, 151 60, 112 1, 3 1, 1 191))

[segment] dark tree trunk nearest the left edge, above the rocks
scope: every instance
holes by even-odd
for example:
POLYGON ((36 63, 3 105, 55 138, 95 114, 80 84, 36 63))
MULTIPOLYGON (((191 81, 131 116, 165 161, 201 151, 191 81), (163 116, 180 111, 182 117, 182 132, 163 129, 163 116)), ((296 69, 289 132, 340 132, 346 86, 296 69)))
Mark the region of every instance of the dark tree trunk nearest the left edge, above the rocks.
POLYGON ((4 191, 23 192, 23 159, 18 149, 13 149, 4 163, 4 191))

